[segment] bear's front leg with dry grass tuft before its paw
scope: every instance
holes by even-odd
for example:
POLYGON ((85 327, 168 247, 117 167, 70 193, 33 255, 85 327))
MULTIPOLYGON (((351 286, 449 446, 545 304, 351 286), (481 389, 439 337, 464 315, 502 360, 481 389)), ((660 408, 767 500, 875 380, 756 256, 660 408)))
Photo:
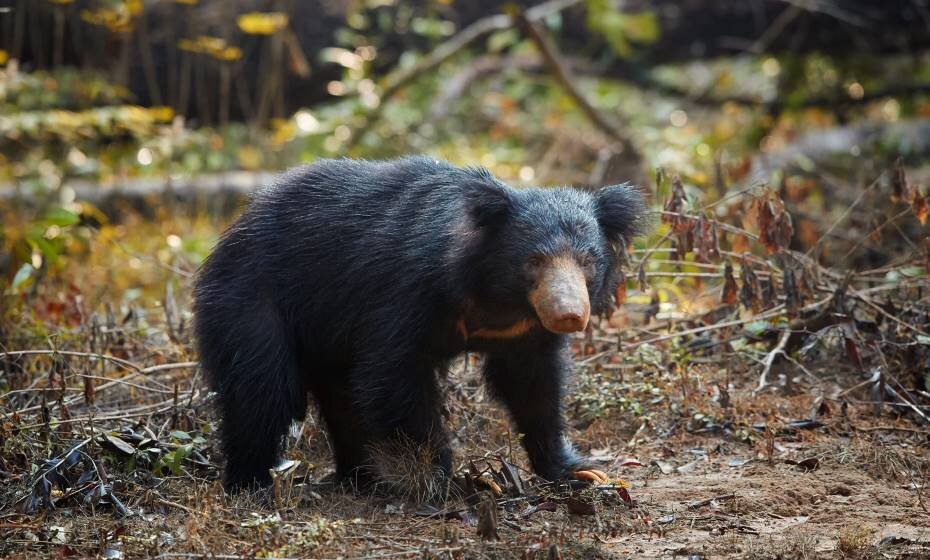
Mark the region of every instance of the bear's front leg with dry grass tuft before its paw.
POLYGON ((434 367, 395 362, 389 368, 359 368, 352 377, 370 434, 369 470, 375 484, 419 501, 444 496, 452 450, 434 367))

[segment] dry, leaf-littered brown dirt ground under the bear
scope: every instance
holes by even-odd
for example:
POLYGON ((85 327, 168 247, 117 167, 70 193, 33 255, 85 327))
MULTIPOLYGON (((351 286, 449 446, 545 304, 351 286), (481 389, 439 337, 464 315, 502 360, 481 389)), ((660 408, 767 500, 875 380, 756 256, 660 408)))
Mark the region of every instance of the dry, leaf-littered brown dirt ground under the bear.
MULTIPOLYGON (((449 420, 460 474, 482 473, 501 487, 490 521, 496 540, 479 536, 489 523, 481 499, 435 507, 320 484, 331 469, 329 451, 311 417, 291 436, 288 457, 299 466, 266 494, 223 495, 212 436, 203 443, 205 464, 165 476, 91 443, 88 454, 106 465, 122 515, 106 499, 64 499, 54 489, 56 507, 21 513, 34 472, 13 472, 8 440, 0 551, 8 558, 930 557, 926 430, 797 387, 793 395, 753 395, 742 389, 750 376, 730 380, 723 409, 712 397, 698 400, 715 386, 700 367, 684 378, 622 373, 609 357, 595 358, 578 357, 568 415, 578 447, 616 477, 597 488, 554 488, 520 469, 522 451, 476 368, 452 372, 449 420), (604 395, 623 397, 605 404, 604 395), (812 409, 819 411, 813 421, 805 416, 812 409), (519 489, 504 461, 517 467, 519 489)), ((159 375, 142 383, 196 383, 190 371, 159 375)), ((209 397, 197 395, 175 418, 191 431, 214 420, 209 397)), ((171 414, 146 423, 168 424, 171 414)))

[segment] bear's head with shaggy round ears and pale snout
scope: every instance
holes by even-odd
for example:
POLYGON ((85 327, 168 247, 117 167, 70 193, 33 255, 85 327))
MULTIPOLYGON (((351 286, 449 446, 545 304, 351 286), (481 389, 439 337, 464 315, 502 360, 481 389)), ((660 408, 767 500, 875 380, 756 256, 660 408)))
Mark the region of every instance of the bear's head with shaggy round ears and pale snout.
POLYGON ((555 333, 582 331, 591 313, 606 310, 626 247, 645 222, 639 189, 481 182, 469 193, 467 211, 481 232, 471 266, 482 302, 534 314, 555 333))

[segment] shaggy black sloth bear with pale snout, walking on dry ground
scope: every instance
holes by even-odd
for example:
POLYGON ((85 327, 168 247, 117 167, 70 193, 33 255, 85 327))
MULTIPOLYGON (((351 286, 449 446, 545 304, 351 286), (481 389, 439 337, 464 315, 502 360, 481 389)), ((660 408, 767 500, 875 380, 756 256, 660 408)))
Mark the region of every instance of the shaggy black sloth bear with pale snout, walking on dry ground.
POLYGON ((425 157, 283 174, 196 281, 226 487, 270 481, 308 394, 338 477, 371 482, 372 450, 397 441, 429 449, 432 471, 450 474, 437 375, 464 351, 486 356, 486 382, 537 474, 603 479, 563 436, 568 335, 610 305, 645 211, 627 185, 515 189, 425 157))

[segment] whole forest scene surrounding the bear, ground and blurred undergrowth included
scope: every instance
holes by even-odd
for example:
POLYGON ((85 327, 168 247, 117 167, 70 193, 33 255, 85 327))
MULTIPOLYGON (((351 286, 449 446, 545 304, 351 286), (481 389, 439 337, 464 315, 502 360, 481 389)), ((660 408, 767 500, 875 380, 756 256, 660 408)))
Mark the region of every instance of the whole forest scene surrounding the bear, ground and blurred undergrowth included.
POLYGON ((926 0, 0 0, 0 554, 930 554, 928 53, 926 0), (490 502, 327 493, 312 420, 222 496, 197 265, 273 173, 408 153, 650 193, 566 403, 610 488, 533 481, 471 356, 490 502))

